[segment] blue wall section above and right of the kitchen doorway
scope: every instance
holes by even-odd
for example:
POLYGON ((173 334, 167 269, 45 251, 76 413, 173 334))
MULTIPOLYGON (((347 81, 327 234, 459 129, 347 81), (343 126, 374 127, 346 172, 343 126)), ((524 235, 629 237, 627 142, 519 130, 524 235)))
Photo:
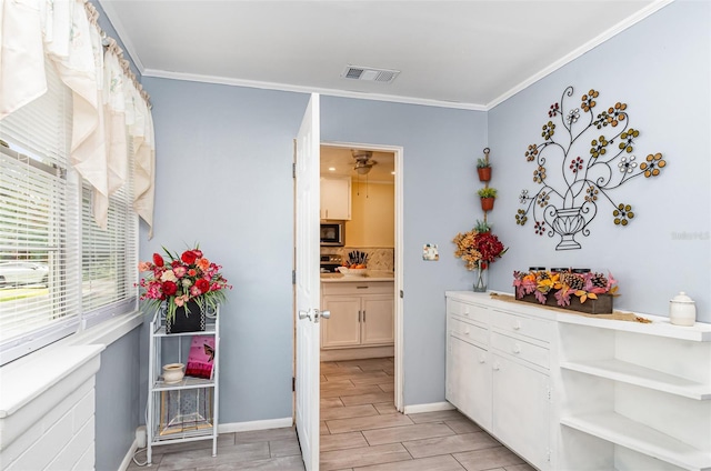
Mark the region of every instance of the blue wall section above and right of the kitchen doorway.
POLYGON ((321 139, 403 147, 404 403, 444 400, 444 291, 470 289, 472 274, 453 257, 457 232, 477 217, 475 158, 487 116, 369 100, 322 97, 321 139), (422 260, 437 243, 440 260, 422 260))

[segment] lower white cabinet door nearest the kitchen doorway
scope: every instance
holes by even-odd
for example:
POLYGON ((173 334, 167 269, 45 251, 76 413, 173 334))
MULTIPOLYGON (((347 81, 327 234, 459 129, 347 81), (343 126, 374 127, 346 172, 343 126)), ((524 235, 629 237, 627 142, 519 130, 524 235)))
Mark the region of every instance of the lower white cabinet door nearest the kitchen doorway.
POLYGON ((447 400, 464 415, 491 430, 490 353, 455 337, 449 337, 447 400))

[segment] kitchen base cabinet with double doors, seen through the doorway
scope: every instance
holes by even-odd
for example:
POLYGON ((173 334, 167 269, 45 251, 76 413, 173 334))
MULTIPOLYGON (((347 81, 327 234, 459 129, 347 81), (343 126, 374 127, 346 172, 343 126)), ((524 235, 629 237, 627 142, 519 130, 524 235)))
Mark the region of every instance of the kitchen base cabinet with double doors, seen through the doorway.
POLYGON ((393 282, 322 283, 321 348, 342 349, 394 344, 393 282))

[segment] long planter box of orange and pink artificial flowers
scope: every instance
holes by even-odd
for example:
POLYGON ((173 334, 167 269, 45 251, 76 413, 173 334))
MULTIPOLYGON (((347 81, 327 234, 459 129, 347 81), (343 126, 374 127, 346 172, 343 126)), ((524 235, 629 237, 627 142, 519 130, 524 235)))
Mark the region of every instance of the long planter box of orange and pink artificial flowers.
POLYGON ((513 272, 515 299, 563 309, 602 314, 612 312, 618 287, 612 274, 572 271, 513 272))

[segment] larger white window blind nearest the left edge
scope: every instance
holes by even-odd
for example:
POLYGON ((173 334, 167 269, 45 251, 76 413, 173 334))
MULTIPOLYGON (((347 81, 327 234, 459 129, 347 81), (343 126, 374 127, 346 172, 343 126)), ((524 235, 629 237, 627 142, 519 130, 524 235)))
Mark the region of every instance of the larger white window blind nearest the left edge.
POLYGON ((0 121, 2 362, 79 324, 76 180, 68 171, 71 94, 48 62, 48 92, 0 121), (73 260, 72 260, 73 259, 73 260))

